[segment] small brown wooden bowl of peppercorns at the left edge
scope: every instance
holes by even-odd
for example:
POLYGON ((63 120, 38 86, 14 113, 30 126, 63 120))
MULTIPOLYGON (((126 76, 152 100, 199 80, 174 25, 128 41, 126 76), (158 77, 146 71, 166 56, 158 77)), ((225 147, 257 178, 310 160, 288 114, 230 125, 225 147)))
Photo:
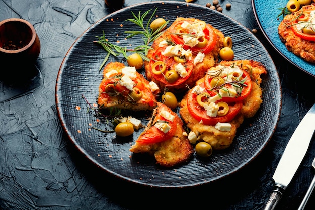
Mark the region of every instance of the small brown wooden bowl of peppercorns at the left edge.
POLYGON ((0 61, 2 64, 35 63, 40 41, 31 23, 19 18, 0 22, 0 61))

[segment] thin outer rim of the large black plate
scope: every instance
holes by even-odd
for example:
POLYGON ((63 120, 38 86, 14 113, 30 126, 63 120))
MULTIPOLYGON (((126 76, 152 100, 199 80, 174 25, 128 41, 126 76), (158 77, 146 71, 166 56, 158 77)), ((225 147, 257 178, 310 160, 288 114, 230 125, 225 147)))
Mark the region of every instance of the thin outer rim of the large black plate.
MULTIPOLYGON (((66 55, 64 56, 64 59, 62 60, 62 63, 60 65, 60 68, 59 68, 59 71, 58 71, 58 75, 57 75, 57 80, 56 80, 56 86, 55 86, 55 101, 56 101, 56 108, 57 108, 57 113, 58 113, 58 117, 59 117, 59 121, 61 123, 61 126, 63 127, 63 130, 65 131, 68 139, 70 140, 70 142, 77 148, 78 151, 80 151, 86 158, 89 159, 89 161, 101 168, 102 170, 104 170, 105 172, 108 172, 109 174, 117 177, 117 178, 120 178, 122 180, 125 180, 125 181, 128 181, 128 182, 132 182, 132 183, 136 183, 136 184, 140 184, 140 185, 143 185, 143 186, 149 186, 149 187, 157 187, 157 188, 183 188, 183 187, 193 187, 193 186, 198 186, 198 185, 203 185, 203 184, 208 184, 208 183, 212 183, 212 182, 215 182, 215 181, 218 181, 222 178, 225 178, 227 176, 230 176, 234 173, 237 173, 240 169, 246 167, 248 164, 250 164, 262 151, 263 149, 267 146, 268 142, 270 141, 270 139, 272 138, 274 132, 275 132, 275 129, 277 128, 277 125, 278 125, 278 122, 279 122, 279 118, 280 118, 280 114, 281 114, 281 107, 282 107, 282 94, 281 94, 281 85, 279 85, 279 93, 280 93, 280 98, 279 98, 279 107, 277 107, 277 117, 276 117, 276 120, 275 120, 275 124, 273 125, 273 131, 269 133, 268 135, 268 138, 266 137, 264 139, 264 143, 260 146, 260 148, 255 151, 255 153, 253 153, 253 155, 251 155, 250 158, 248 158, 248 160, 246 162, 243 162, 241 165, 235 167, 233 170, 231 170, 231 172, 229 173, 225 173, 225 174, 221 174, 221 175, 218 175, 215 179, 211 179, 211 181, 199 181, 197 183, 191 183, 191 184, 181 184, 181 185, 159 185, 159 184, 151 184, 151 183, 145 183, 145 182, 141 182, 139 180, 136 180, 136 179, 133 179, 133 178, 129 178, 129 177, 126 177, 126 176, 123 176, 113 170, 110 170, 106 167, 104 167, 102 164, 100 164, 95 158, 93 158, 80 144, 78 144, 74 139, 74 136, 71 132, 68 131, 67 129, 67 126, 65 125, 65 119, 63 117, 63 111, 61 111, 61 104, 59 102, 59 96, 58 96, 58 89, 60 89, 59 87, 59 79, 60 76, 62 75, 62 71, 64 70, 63 67, 66 63, 66 61, 68 60, 68 55, 70 54, 70 52, 73 50, 73 47, 75 46, 75 44, 77 42, 79 42, 82 37, 91 29, 93 29, 94 26, 96 26, 97 24, 101 23, 102 21, 104 21, 105 19, 107 19, 108 17, 111 17, 111 16, 114 16, 115 14, 117 13, 121 13, 123 10, 127 10, 129 8, 134 8, 134 7, 138 7, 138 6, 141 6, 141 5, 146 5, 146 4, 151 4, 151 5, 157 5, 157 4, 180 4, 180 5, 190 5, 190 6, 193 6, 193 7, 196 7, 196 8, 204 8, 204 9, 209 9, 205 6, 201 6, 201 5, 196 5, 196 4, 192 4, 192 3, 186 3, 186 2, 176 2, 176 1, 154 1, 154 2, 149 2, 149 3, 138 3, 138 4, 134 4, 134 5, 131 5, 131 6, 128 6, 128 7, 125 7, 125 8, 122 8, 121 10, 117 10, 113 13, 110 13, 108 14, 107 16, 101 18, 100 20, 96 21, 94 24, 92 24, 89 28, 87 28, 80 36, 77 37, 77 39, 73 42, 73 44, 70 46, 69 50, 67 51, 66 55)), ((218 12, 217 12, 218 13, 218 12)), ((232 19, 231 17, 225 15, 225 14, 221 14, 221 15, 224 15, 226 16, 227 18, 231 19, 232 21, 240 24, 242 26, 242 28, 248 30, 246 27, 244 27, 241 23, 235 21, 234 19, 232 19)), ((248 30, 249 31, 249 30, 248 30)), ((253 35, 254 36, 254 35, 253 35)), ((254 36, 255 37, 255 36, 254 36)), ((261 47, 264 49, 264 51, 267 53, 266 56, 268 56, 270 62, 273 64, 273 66, 275 67, 274 65, 274 62, 272 60, 272 58, 270 57, 268 51, 266 50, 266 48, 262 45, 262 43, 255 37, 256 41, 261 45, 261 47)), ((277 72, 274 72, 276 75, 277 75, 277 80, 279 81, 279 75, 277 72)), ((280 84, 280 81, 279 81, 279 84, 280 84)), ((189 163, 188 163, 189 164, 189 163)))

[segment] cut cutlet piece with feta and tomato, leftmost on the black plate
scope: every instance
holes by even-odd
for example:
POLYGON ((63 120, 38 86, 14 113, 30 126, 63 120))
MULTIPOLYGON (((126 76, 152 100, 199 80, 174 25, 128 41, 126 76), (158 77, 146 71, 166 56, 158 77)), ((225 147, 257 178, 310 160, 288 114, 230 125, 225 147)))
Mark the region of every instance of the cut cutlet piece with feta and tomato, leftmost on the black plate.
POLYGON ((160 93, 154 82, 147 81, 134 67, 111 62, 104 67, 99 86, 99 108, 133 111, 153 110, 160 93))

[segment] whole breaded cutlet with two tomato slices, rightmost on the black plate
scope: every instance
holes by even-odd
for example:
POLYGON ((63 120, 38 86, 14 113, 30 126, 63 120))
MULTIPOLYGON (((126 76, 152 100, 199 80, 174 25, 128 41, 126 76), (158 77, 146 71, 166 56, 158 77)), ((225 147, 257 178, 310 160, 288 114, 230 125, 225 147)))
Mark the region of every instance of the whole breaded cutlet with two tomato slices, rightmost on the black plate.
MULTIPOLYGON (((198 80, 196 82, 196 86, 192 88, 180 102, 180 115, 184 122, 187 124, 187 127, 195 133, 195 135, 197 136, 197 140, 209 143, 214 150, 221 150, 229 147, 232 144, 233 139, 236 135, 237 128, 240 127, 240 125, 243 123, 243 120, 245 118, 253 117, 256 114, 260 107, 260 104, 262 103, 260 75, 267 73, 266 68, 260 62, 255 62, 252 60, 222 61, 217 67, 214 68, 214 70, 212 70, 217 73, 218 71, 220 71, 220 69, 226 70, 222 70, 219 76, 223 77, 223 74, 229 72, 229 76, 227 76, 229 78, 225 77, 229 82, 233 81, 233 76, 238 77, 241 74, 239 72, 244 72, 244 69, 251 69, 251 72, 247 74, 251 77, 250 81, 248 81, 251 84, 245 82, 247 86, 251 85, 251 91, 249 93, 246 93, 245 86, 243 87, 244 94, 247 94, 246 97, 244 95, 245 98, 242 98, 243 93, 236 93, 234 97, 238 98, 239 96, 239 99, 235 99, 237 101, 234 102, 228 102, 232 101, 232 99, 229 98, 229 96, 233 94, 232 89, 219 91, 219 88, 216 90, 215 88, 213 88, 213 91, 218 91, 220 93, 220 97, 213 94, 211 94, 211 96, 210 94, 207 95, 208 88, 204 86, 204 81, 205 79, 207 79, 207 77, 205 77, 198 80), (193 98, 194 94, 196 95, 195 97, 200 98, 200 103, 207 104, 202 107, 199 106, 197 102, 192 102, 190 96, 192 95, 193 98), (218 108, 218 110, 216 110, 217 115, 214 115, 213 117, 208 116, 208 113, 205 114, 206 112, 209 112, 210 114, 214 112, 213 110, 215 109, 212 108, 215 104, 210 104, 211 102, 218 104, 219 101, 223 100, 227 101, 229 105, 229 111, 226 115, 218 116, 218 113, 222 112, 225 108, 223 110, 221 110, 221 108, 218 108), (192 106, 189 104, 192 104, 192 106), (232 112, 235 109, 238 109, 239 111, 235 113, 234 117, 231 116, 231 120, 228 120, 229 117, 227 116, 233 115, 232 112), (200 112, 203 116, 198 116, 196 114, 197 112, 200 112)), ((208 73, 209 72, 211 72, 211 69, 208 71, 208 73)), ((240 78, 242 79, 240 81, 243 81, 243 79, 246 81, 244 77, 240 78)), ((221 86, 221 89, 223 89, 222 87, 223 86, 221 86)))

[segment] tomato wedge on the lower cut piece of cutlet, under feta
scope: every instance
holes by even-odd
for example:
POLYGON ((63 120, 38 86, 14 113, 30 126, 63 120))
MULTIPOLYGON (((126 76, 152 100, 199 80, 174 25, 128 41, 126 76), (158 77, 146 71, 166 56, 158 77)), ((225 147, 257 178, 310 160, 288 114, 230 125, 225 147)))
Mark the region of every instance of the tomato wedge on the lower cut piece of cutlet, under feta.
POLYGON ((169 140, 171 137, 175 135, 177 124, 178 124, 178 118, 175 117, 173 122, 169 121, 165 119, 164 117, 162 117, 161 115, 159 115, 159 113, 161 113, 162 110, 166 110, 167 112, 171 114, 173 113, 173 111, 170 108, 162 104, 158 108, 158 111, 156 112, 157 114, 154 117, 153 124, 156 121, 167 121, 171 129, 167 133, 164 133, 159 128, 156 128, 154 125, 152 125, 149 129, 144 131, 144 133, 142 133, 139 136, 139 138, 137 139, 138 143, 142 143, 142 144, 159 143, 159 142, 169 140))

